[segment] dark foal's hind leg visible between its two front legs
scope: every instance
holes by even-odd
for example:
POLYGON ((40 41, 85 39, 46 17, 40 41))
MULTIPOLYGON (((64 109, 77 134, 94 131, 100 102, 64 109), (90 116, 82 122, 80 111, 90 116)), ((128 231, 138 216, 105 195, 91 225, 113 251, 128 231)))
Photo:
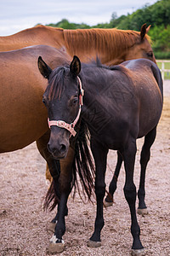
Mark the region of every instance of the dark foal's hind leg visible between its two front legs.
POLYGON ((111 207, 113 205, 113 194, 116 191, 116 183, 119 176, 119 172, 122 166, 122 154, 117 151, 117 163, 114 175, 112 177, 111 183, 109 185, 109 195, 105 197, 104 205, 105 207, 111 207))

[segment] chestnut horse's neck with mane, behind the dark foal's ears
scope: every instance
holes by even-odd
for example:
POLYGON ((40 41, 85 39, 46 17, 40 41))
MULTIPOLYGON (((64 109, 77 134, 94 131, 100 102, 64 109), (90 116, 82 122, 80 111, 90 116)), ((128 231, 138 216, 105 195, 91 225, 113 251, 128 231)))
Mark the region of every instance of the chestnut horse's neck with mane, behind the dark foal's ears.
POLYGON ((95 59, 115 65, 124 61, 125 52, 139 42, 138 32, 116 29, 64 30, 65 47, 70 55, 78 55, 81 61, 95 59))

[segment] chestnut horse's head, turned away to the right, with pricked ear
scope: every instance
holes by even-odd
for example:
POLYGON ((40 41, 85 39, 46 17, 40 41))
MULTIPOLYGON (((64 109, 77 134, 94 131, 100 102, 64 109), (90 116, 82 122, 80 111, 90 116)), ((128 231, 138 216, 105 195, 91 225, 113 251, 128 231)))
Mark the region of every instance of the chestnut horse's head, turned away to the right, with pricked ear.
POLYGON ((134 44, 131 48, 127 50, 127 54, 125 55, 125 60, 133 60, 133 59, 149 59, 150 61, 154 61, 156 63, 156 58, 153 53, 153 49, 150 46, 148 41, 147 33, 150 30, 150 26, 146 28, 146 24, 141 27, 139 44, 134 44))

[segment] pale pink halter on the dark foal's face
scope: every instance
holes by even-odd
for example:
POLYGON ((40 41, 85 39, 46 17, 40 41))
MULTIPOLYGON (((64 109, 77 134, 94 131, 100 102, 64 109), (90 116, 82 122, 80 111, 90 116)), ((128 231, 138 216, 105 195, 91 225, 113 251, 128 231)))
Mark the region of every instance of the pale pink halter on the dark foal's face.
POLYGON ((71 124, 67 124, 65 123, 65 121, 62 120, 49 120, 48 119, 48 126, 49 129, 51 128, 52 125, 58 126, 60 128, 65 128, 66 130, 71 132, 71 135, 73 137, 76 136, 77 132, 74 130, 75 125, 77 124, 78 119, 80 118, 80 113, 82 110, 82 96, 84 95, 84 90, 82 89, 82 82, 81 79, 79 77, 77 77, 78 82, 79 82, 79 86, 80 86, 80 94, 79 94, 79 109, 78 109, 78 113, 77 113, 77 118, 71 123, 71 124))

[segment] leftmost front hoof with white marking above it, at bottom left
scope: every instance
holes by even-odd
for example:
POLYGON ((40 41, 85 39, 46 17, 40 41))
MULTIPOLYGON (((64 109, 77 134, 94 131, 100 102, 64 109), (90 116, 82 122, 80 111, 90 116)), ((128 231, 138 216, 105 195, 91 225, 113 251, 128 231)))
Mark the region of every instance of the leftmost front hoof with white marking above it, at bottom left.
POLYGON ((65 242, 59 240, 56 236, 52 236, 48 247, 49 253, 62 253, 65 250, 65 242))

